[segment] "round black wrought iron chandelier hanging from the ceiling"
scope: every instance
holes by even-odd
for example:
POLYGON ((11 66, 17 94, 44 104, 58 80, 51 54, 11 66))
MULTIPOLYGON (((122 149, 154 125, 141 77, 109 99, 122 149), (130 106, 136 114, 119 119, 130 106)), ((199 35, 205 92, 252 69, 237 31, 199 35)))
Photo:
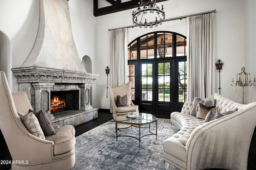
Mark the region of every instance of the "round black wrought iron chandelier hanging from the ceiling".
POLYGON ((161 25, 164 22, 165 14, 162 4, 162 9, 156 5, 156 0, 140 0, 138 9, 132 11, 133 24, 136 24, 140 28, 153 28, 153 26, 161 25), (150 19, 147 22, 146 16, 150 19), (154 20, 153 18, 156 18, 154 20), (145 21, 145 22, 144 22, 145 21))

